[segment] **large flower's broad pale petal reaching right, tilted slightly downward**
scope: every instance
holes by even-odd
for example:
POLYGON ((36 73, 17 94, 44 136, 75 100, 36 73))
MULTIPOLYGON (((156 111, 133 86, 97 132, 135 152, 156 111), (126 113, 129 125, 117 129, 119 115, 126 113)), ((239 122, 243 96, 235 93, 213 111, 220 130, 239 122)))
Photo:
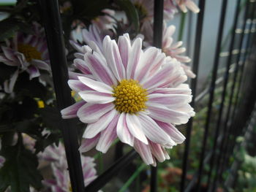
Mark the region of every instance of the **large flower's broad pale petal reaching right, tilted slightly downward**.
POLYGON ((162 104, 148 104, 149 116, 155 120, 160 120, 165 123, 182 124, 187 123, 190 115, 187 112, 170 110, 162 104))

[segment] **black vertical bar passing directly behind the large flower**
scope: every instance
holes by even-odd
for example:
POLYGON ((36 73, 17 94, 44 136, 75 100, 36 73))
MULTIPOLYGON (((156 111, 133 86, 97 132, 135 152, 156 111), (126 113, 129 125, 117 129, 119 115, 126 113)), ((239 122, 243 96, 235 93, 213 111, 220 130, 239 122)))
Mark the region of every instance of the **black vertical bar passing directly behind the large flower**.
MULTIPOLYGON (((154 26, 153 45, 162 49, 162 22, 164 14, 164 1, 154 0, 154 26)), ((151 166, 150 191, 157 192, 157 166, 151 166)))

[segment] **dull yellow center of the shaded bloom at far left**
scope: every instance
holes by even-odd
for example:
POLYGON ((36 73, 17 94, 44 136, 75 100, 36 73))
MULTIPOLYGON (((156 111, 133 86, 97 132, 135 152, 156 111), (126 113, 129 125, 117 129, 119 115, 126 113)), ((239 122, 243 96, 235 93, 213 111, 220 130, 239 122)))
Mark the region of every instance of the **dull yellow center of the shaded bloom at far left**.
POLYGON ((31 61, 33 58, 42 59, 41 53, 39 53, 36 47, 32 47, 31 45, 18 44, 18 52, 23 53, 26 61, 31 61))

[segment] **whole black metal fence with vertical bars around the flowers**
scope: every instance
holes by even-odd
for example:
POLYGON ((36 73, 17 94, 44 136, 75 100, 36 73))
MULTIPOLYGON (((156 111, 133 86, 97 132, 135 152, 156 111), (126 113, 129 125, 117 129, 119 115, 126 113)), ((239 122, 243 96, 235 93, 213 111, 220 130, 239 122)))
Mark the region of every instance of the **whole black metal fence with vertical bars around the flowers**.
MULTIPOLYGON (((199 1, 200 13, 197 15, 195 31, 195 47, 192 71, 197 74, 200 68, 200 54, 202 53, 201 39, 203 35, 203 21, 206 0, 199 1)), ((214 53, 213 69, 208 88, 201 93, 197 91, 197 79, 191 80, 192 106, 197 108, 197 104, 208 97, 205 126, 203 128, 202 148, 200 150, 200 164, 192 180, 187 182, 187 170, 189 164, 189 153, 191 152, 190 140, 193 130, 193 119, 187 124, 187 139, 185 142, 182 176, 180 191, 200 191, 201 179, 207 177, 205 191, 216 191, 217 186, 224 183, 222 174, 230 166, 228 159, 233 154, 236 137, 240 135, 246 125, 246 120, 253 110, 256 93, 256 66, 255 61, 250 61, 250 56, 255 53, 255 1, 252 0, 230 0, 229 3, 236 4, 236 11, 233 15, 233 27, 229 38, 230 45, 226 52, 227 62, 224 74, 219 73, 220 55, 222 55, 223 30, 225 28, 225 14, 227 12, 227 0, 222 1, 221 15, 219 18, 219 31, 216 50, 214 53), (236 50, 236 51, 234 51, 236 50), (232 70, 231 70, 232 69, 232 70), (231 72, 230 72, 231 71, 231 72), (222 77, 219 85, 217 80, 222 77), (230 87, 227 85, 230 83, 230 87), (216 98, 216 89, 220 88, 221 95, 216 98), (213 114, 214 101, 219 99, 217 113, 213 114), (213 115, 216 116, 216 123, 211 123, 213 115), (214 135, 209 138, 209 130, 214 130, 214 135), (213 142, 208 145, 208 140, 213 142), (206 170, 206 165, 210 169, 206 170)), ((56 98, 59 110, 72 104, 69 87, 67 85, 67 60, 65 58, 65 48, 61 18, 57 0, 39 0, 42 9, 42 20, 45 23, 45 31, 48 39, 48 49, 50 53, 50 63, 53 72, 53 82, 55 85, 56 98)), ((162 18, 163 0, 154 1, 154 45, 161 47, 162 42, 162 18)), ((209 61, 209 66, 212 62, 209 61)), ((214 118, 215 118, 214 116, 214 118)), ((195 122, 194 122, 195 123, 195 122)), ((128 166, 135 158, 135 150, 130 151, 118 159, 110 168, 105 170, 86 188, 83 184, 83 174, 80 164, 80 153, 78 152, 78 133, 72 120, 63 120, 61 131, 64 137, 64 145, 67 153, 72 191, 98 191, 108 183, 117 172, 128 166)), ((200 141, 199 141, 200 142, 200 141)), ((231 173, 230 173, 231 174, 231 173)), ((222 185, 222 187, 225 187, 222 185)), ((151 168, 151 191, 157 191, 157 167, 151 168)))

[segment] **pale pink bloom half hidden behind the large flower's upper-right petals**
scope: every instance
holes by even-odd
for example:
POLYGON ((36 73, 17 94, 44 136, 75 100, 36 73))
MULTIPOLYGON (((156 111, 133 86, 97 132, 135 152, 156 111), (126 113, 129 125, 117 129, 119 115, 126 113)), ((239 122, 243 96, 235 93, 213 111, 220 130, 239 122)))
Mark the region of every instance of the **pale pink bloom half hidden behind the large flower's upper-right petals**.
MULTIPOLYGON (((175 26, 168 26, 166 27, 166 23, 163 25, 163 31, 162 31, 162 51, 169 55, 172 58, 176 58, 177 61, 180 61, 181 63, 189 63, 191 59, 187 56, 180 55, 181 53, 186 52, 185 47, 181 47, 183 42, 179 41, 176 43, 173 43, 173 34, 176 30, 175 26)), ((187 74, 188 77, 195 78, 196 75, 191 71, 190 66, 187 66, 185 64, 181 64, 181 66, 184 69, 184 72, 187 74)))

